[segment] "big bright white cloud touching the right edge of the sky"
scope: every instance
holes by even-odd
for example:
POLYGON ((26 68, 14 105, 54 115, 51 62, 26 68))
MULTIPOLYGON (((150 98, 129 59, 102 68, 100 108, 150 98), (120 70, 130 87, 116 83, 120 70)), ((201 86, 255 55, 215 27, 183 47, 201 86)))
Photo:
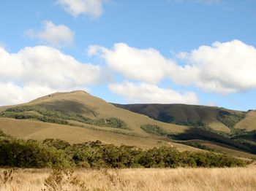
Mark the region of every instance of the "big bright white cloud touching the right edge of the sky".
MULTIPOLYGON (((256 49, 241 41, 215 42, 192 52, 183 52, 189 63, 187 72, 196 74, 188 77, 203 90, 217 93, 235 93, 256 88, 256 49)), ((187 66, 187 67, 188 67, 187 66)), ((185 69, 186 70, 186 69, 185 69)))

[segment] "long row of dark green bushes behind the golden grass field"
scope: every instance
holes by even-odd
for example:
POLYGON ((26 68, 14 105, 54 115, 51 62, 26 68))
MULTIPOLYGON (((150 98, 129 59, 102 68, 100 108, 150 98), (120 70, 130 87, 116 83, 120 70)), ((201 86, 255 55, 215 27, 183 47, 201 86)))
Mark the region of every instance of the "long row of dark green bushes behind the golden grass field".
POLYGON ((178 152, 171 147, 143 150, 100 141, 70 145, 59 139, 20 140, 0 134, 0 165, 6 167, 176 168, 244 166, 244 160, 213 152, 178 152))

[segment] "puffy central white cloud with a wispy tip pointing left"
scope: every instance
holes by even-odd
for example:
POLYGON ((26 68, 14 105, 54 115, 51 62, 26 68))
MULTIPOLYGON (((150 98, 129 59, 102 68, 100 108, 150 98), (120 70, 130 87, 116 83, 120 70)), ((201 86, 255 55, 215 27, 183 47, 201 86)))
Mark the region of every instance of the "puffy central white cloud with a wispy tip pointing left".
POLYGON ((154 49, 137 49, 127 44, 115 44, 113 50, 105 47, 89 47, 89 55, 99 55, 111 69, 129 79, 157 83, 176 67, 173 61, 164 58, 154 49))

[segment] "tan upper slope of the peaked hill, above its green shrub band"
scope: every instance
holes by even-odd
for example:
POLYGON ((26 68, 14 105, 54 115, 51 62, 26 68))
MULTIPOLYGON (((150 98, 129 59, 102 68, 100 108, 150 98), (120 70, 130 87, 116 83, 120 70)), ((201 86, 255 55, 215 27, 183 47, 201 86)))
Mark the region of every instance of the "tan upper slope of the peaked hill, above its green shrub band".
POLYGON ((84 91, 53 93, 31 101, 26 105, 43 106, 48 109, 74 112, 83 117, 89 117, 90 119, 116 117, 120 120, 124 120, 130 130, 142 135, 145 135, 145 133, 140 129, 140 126, 144 124, 160 125, 170 132, 184 132, 184 130, 187 130, 187 127, 182 125, 166 124, 164 122, 152 120, 141 114, 129 112, 126 109, 120 109, 84 91))

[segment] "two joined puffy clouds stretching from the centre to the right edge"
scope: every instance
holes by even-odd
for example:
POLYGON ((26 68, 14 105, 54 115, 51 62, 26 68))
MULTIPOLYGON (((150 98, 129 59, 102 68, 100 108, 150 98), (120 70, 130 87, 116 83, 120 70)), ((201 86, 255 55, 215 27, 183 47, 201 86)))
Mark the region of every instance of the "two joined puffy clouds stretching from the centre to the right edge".
POLYGON ((178 85, 195 85, 216 93, 236 93, 256 88, 256 49, 233 40, 215 42, 191 52, 180 52, 178 58, 187 64, 178 65, 154 49, 137 49, 115 44, 113 49, 89 47, 90 55, 105 59, 111 69, 127 79, 157 84, 170 78, 178 85))

